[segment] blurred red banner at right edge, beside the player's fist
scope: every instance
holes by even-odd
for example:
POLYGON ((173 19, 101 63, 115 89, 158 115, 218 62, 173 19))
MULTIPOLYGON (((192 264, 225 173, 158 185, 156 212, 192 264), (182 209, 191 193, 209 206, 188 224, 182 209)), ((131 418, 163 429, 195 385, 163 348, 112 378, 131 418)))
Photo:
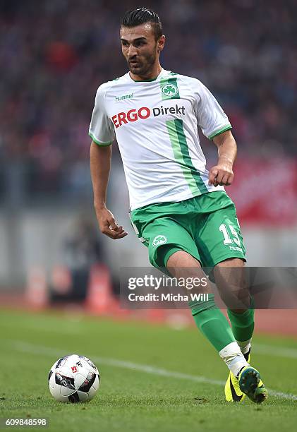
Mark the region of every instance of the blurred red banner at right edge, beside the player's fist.
POLYGON ((227 192, 243 224, 285 227, 297 222, 297 160, 238 160, 227 192))

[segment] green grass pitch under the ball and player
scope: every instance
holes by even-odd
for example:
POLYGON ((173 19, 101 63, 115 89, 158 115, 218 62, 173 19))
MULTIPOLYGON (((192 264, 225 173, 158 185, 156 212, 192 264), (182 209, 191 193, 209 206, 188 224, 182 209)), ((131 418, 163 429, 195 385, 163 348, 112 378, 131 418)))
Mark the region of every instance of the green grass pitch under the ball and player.
POLYGON ((57 432, 296 430, 297 340, 255 336, 252 364, 273 390, 258 406, 224 401, 226 366, 195 328, 18 311, 0 311, 0 325, 1 417, 45 417, 57 432), (49 368, 71 353, 101 374, 87 404, 61 404, 48 390, 49 368))

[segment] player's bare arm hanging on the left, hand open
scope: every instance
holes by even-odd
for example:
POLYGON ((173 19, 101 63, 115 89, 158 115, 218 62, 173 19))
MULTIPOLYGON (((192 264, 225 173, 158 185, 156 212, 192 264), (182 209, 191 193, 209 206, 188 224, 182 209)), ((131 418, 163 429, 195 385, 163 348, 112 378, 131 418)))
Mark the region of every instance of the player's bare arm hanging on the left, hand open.
POLYGON ((100 146, 92 141, 90 148, 90 168, 94 193, 94 207, 102 234, 111 239, 122 239, 128 233, 116 224, 114 215, 108 210, 107 184, 111 165, 111 145, 100 146))

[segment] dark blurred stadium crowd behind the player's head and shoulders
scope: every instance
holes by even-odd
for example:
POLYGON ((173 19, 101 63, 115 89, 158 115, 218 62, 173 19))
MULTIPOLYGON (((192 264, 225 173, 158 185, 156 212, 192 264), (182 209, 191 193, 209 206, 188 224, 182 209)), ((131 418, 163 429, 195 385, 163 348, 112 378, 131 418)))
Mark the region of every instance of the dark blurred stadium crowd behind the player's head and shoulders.
MULTIPOLYGON (((31 196, 89 188, 87 130, 95 92, 126 73, 119 21, 135 6, 143 5, 0 1, 1 176, 9 177, 8 167, 22 167, 31 196)), ((295 0, 144 6, 162 19, 162 65, 212 90, 234 125, 240 156, 297 154, 295 0)))

